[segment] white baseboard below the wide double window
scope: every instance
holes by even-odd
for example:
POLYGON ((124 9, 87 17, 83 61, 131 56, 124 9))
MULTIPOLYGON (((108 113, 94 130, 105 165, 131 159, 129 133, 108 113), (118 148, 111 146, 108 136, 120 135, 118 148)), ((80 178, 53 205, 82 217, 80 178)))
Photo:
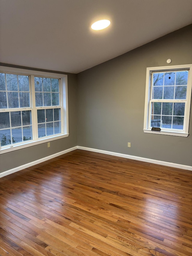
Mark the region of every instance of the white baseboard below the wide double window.
POLYGON ((70 148, 70 149, 63 150, 63 151, 58 152, 58 153, 55 153, 55 154, 53 154, 53 155, 46 156, 46 157, 41 158, 41 159, 35 160, 35 161, 30 162, 30 163, 28 163, 28 164, 23 164, 23 165, 18 166, 18 167, 16 167, 16 168, 13 168, 13 169, 4 171, 4 172, 0 173, 0 178, 2 178, 2 177, 4 177, 4 176, 7 176, 7 175, 9 175, 9 174, 11 174, 11 173, 15 173, 15 172, 18 172, 18 171, 20 171, 20 170, 26 169, 26 168, 28 168, 28 167, 31 167, 31 166, 35 165, 35 164, 40 164, 40 163, 42 163, 42 162, 44 162, 44 161, 47 161, 47 160, 49 160, 49 159, 52 159, 52 158, 54 158, 54 157, 57 157, 57 156, 66 154, 66 153, 68 153, 68 152, 70 152, 70 151, 73 151, 73 150, 75 150, 75 149, 77 149, 77 146, 75 146, 75 147, 73 147, 73 148, 70 148))

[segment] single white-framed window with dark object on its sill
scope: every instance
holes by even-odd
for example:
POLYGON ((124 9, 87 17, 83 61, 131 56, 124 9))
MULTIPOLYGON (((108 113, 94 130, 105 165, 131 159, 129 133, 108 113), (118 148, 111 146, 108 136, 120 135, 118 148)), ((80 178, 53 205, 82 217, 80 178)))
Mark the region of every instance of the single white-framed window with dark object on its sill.
POLYGON ((192 65, 147 68, 144 132, 188 136, 191 69, 192 65))

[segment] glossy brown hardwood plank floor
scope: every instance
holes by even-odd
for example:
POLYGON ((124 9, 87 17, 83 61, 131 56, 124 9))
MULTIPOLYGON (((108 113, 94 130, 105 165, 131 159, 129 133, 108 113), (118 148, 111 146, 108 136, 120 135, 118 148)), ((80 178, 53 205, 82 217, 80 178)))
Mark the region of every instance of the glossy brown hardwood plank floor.
POLYGON ((0 255, 192 255, 192 172, 75 150, 0 179, 0 255))

